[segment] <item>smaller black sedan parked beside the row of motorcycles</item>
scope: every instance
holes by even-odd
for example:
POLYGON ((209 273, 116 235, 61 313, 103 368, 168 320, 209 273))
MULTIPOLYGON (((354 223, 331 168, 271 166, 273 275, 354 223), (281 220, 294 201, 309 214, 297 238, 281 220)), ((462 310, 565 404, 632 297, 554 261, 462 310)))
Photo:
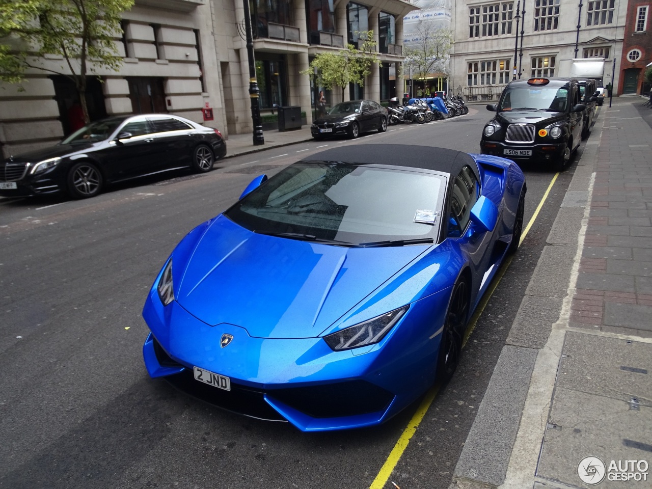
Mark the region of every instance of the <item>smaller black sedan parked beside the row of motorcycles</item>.
POLYGON ((340 102, 310 126, 316 140, 338 135, 357 138, 361 132, 376 129, 378 132, 387 130, 387 109, 374 100, 340 102))

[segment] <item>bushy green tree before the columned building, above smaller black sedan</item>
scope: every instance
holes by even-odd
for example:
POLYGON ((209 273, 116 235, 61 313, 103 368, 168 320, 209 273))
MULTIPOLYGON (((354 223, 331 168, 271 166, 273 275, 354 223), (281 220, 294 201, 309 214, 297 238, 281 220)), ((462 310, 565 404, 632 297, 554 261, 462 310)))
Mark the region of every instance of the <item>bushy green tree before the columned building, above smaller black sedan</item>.
POLYGON ((344 100, 344 90, 349 83, 357 83, 363 87, 364 77, 371 74, 372 63, 380 65, 380 61, 376 52, 374 31, 362 31, 356 34, 362 41, 359 48, 348 44, 346 50, 320 53, 312 60, 310 67, 301 71, 301 74, 310 76, 310 80, 316 80, 320 87, 327 90, 341 87, 342 100, 344 100))

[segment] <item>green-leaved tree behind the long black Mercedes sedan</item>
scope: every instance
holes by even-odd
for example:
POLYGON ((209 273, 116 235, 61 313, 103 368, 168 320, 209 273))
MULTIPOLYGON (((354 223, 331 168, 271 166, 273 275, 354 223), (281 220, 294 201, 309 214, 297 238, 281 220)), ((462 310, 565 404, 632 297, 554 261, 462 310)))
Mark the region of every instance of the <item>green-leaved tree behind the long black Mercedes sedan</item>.
POLYGON ((98 68, 118 70, 121 13, 134 0, 0 0, 0 81, 21 83, 28 68, 74 82, 85 121, 86 82, 98 68), (63 57, 57 67, 52 56, 63 57))

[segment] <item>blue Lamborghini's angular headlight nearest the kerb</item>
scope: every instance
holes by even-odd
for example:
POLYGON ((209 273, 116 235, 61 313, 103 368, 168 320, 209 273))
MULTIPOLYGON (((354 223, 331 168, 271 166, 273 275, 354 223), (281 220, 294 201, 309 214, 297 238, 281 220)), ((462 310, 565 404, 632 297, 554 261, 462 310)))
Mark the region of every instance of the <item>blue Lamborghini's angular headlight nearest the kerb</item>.
POLYGON ((376 344, 385 338, 385 334, 389 333, 408 309, 409 304, 364 323, 324 336, 324 340, 334 351, 376 344))

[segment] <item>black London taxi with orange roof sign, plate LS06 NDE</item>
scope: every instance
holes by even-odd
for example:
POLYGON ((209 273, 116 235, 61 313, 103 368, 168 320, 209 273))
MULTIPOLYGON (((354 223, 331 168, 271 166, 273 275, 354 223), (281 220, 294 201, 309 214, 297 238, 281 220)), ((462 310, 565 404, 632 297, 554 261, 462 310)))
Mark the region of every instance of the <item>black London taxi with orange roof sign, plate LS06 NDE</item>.
POLYGON ((480 141, 483 155, 518 162, 541 162, 564 170, 582 141, 582 93, 573 78, 530 78, 510 82, 486 123, 480 141))

